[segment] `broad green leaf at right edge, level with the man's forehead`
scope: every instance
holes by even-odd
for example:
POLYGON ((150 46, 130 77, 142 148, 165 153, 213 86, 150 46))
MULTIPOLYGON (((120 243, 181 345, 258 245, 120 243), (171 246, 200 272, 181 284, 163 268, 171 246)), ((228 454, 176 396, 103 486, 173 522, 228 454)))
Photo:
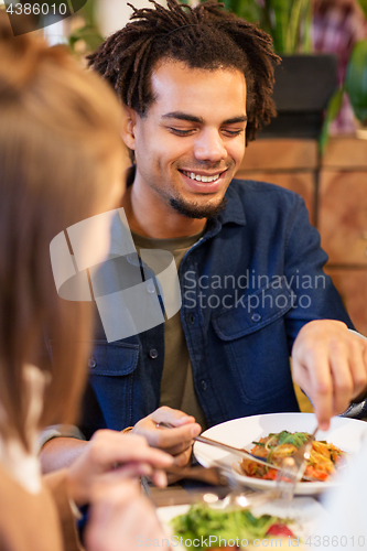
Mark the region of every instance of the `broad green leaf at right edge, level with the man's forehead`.
POLYGON ((367 120, 367 40, 357 42, 352 51, 345 74, 345 89, 355 116, 367 120))

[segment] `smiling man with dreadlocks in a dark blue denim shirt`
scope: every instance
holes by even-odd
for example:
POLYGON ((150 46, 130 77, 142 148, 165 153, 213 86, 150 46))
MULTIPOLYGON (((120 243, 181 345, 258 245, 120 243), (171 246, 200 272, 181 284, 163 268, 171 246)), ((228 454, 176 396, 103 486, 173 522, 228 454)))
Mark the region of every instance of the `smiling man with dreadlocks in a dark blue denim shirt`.
MULTIPOLYGON (((322 271, 301 197, 234 180, 246 141, 274 116, 270 37, 213 1, 152 3, 89 61, 128 114, 136 166, 122 206, 134 245, 172 252, 182 307, 118 343, 97 335, 80 428, 89 439, 133 424, 182 465, 201 426, 298 411, 291 350, 293 377, 327 428, 366 390, 367 347, 322 271)), ((51 440, 45 468, 85 445, 51 440)))

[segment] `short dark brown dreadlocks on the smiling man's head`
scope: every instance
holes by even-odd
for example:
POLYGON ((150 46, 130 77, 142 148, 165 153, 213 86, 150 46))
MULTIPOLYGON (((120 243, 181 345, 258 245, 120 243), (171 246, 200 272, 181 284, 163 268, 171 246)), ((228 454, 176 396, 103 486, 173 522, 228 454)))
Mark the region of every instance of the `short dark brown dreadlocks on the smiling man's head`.
POLYGON ((256 25, 223 11, 215 0, 195 8, 168 0, 163 8, 136 9, 129 23, 112 34, 91 55, 89 63, 108 80, 120 100, 141 117, 154 100, 151 75, 164 61, 179 61, 190 68, 234 68, 247 85, 247 142, 276 116, 271 98, 273 64, 280 63, 271 37, 256 25))

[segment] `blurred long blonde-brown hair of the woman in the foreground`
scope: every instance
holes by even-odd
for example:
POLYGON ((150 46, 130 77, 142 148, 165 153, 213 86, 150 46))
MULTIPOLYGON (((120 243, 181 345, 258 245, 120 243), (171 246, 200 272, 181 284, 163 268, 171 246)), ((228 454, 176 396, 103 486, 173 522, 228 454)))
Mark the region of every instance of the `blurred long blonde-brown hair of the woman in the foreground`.
POLYGON ((93 321, 88 303, 57 296, 50 242, 104 210, 118 160, 122 191, 121 118, 97 75, 64 47, 14 37, 0 12, 0 431, 25 445, 25 364, 52 372, 42 425, 76 415, 93 321), (44 328, 56 342, 52 366, 42 361, 44 328))

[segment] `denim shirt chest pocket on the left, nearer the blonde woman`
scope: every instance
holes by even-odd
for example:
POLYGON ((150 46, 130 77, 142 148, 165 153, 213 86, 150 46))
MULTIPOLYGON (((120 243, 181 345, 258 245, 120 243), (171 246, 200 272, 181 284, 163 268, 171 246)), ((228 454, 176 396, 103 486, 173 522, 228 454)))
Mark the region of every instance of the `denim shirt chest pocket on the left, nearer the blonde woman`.
MULTIPOLYGON (((89 387, 98 402, 96 410, 100 412, 107 429, 121 430, 131 424, 138 359, 138 344, 94 342, 94 350, 88 359, 89 387)), ((85 421, 88 423, 87 419, 85 421)))

